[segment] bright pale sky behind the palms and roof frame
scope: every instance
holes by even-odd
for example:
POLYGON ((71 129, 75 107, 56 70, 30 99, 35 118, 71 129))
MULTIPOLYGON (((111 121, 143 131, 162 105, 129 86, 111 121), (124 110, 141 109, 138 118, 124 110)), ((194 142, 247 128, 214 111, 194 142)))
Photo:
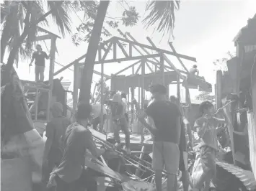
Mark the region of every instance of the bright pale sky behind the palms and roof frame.
MULTIPOLYGON (((136 9, 141 13, 141 17, 144 17, 144 10, 146 7, 146 1, 131 1, 131 5, 136 6, 136 9)), ((125 4, 123 5, 125 6, 125 4)), ((121 17, 123 13, 123 6, 118 1, 112 1, 107 11, 107 17, 121 17)), ((126 8, 127 6, 125 6, 126 8)), ((180 10, 176 13, 175 21, 175 40, 172 40, 173 45, 177 52, 183 55, 189 55, 196 57, 198 62, 198 69, 200 75, 203 75, 210 83, 215 83, 215 75, 213 61, 226 56, 226 52, 234 51, 234 39, 239 29, 247 24, 247 19, 251 18, 255 14, 256 1, 244 0, 244 1, 182 1, 180 4, 180 10)), ((79 26, 78 17, 72 17, 73 27, 79 26)), ((162 39, 162 34, 158 32, 153 33, 153 27, 144 29, 141 21, 135 27, 119 27, 123 32, 130 32, 131 35, 143 44, 149 45, 146 37, 151 37, 157 47, 161 47, 165 50, 170 50, 168 45, 168 37, 162 39), (161 40, 162 39, 162 40, 161 40)), ((47 28, 50 32, 59 34, 58 29, 54 25, 47 28)), ((112 30, 112 35, 119 36, 118 32, 112 30)), ((43 50, 47 52, 43 42, 40 43, 43 46, 43 50)), ((50 48, 49 42, 48 49, 50 48)), ((58 55, 56 55, 56 62, 62 65, 67 65, 70 62, 76 60, 77 57, 84 55, 87 52, 87 43, 76 47, 71 42, 71 35, 67 35, 63 39, 57 40, 58 55)), ((171 50, 170 50, 171 51, 171 50)), ((47 52, 48 53, 48 52, 47 52)), ((123 57, 123 55, 120 55, 123 57)), ((108 59, 108 58, 107 58, 108 59)), ((175 63, 176 67, 182 69, 177 62, 176 57, 169 56, 169 59, 175 63)), ((183 60, 185 65, 189 69, 195 62, 183 60)), ((26 80, 35 79, 33 73, 34 67, 31 68, 30 74, 29 64, 30 61, 24 62, 17 72, 19 78, 26 80)), ((119 70, 127 67, 132 62, 121 62, 105 65, 105 73, 110 75, 116 73, 119 70)), ((61 66, 56 65, 55 71, 59 70, 61 66)), ((71 67, 73 69, 73 67, 71 67)), ((94 70, 100 71, 100 65, 94 67, 94 70)), ((126 75, 131 74, 131 70, 126 75)), ((64 79, 73 81, 73 73, 71 70, 66 70, 61 73, 64 79)), ((45 78, 48 78, 48 61, 45 67, 45 78)), ((98 80, 100 76, 94 75, 94 80, 98 80)), ((176 88, 170 88, 170 95, 176 94, 176 88)), ((198 94, 197 90, 190 90, 191 97, 198 94)))

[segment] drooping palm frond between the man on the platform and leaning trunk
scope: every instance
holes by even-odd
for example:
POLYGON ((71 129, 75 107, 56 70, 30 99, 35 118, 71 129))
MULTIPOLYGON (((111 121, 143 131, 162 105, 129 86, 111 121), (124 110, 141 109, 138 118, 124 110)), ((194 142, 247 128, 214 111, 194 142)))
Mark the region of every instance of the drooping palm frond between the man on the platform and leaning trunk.
POLYGON ((65 37, 66 32, 71 33, 71 19, 69 17, 70 9, 67 9, 67 6, 63 4, 63 1, 48 1, 48 9, 53 9, 51 16, 63 37, 65 37))

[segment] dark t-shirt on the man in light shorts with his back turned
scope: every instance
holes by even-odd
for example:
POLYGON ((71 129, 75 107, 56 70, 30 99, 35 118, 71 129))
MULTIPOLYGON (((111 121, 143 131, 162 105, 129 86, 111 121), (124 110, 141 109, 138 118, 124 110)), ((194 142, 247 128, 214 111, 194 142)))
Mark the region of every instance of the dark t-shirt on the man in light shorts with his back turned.
POLYGON ((150 116, 158 131, 154 141, 167 141, 175 144, 180 142, 180 128, 177 118, 181 116, 179 108, 170 101, 154 101, 146 108, 146 115, 150 116))

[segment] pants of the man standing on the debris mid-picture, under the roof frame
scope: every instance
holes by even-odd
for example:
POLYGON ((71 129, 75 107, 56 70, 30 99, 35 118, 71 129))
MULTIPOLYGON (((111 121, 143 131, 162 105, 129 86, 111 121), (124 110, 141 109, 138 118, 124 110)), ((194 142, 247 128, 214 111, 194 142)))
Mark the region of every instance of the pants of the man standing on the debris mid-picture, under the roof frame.
POLYGON ((114 121, 114 137, 115 140, 120 143, 120 136, 119 136, 119 131, 120 128, 123 131, 123 133, 125 134, 125 145, 126 148, 130 148, 130 131, 129 131, 129 127, 128 127, 128 121, 126 120, 126 118, 120 118, 119 121, 114 121))

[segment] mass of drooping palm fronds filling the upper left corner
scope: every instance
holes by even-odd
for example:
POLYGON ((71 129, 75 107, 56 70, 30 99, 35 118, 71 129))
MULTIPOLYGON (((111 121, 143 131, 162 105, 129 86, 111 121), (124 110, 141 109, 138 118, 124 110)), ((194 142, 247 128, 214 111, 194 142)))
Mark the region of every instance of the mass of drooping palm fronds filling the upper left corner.
POLYGON ((4 18, 1 34, 1 62, 6 47, 9 48, 7 66, 12 67, 19 55, 28 57, 32 53, 37 35, 37 25, 48 25, 47 17, 51 16, 63 37, 71 33, 71 13, 77 9, 87 14, 87 9, 96 9, 87 1, 4 1, 10 12, 4 18), (45 10, 45 6, 47 9, 45 10))

